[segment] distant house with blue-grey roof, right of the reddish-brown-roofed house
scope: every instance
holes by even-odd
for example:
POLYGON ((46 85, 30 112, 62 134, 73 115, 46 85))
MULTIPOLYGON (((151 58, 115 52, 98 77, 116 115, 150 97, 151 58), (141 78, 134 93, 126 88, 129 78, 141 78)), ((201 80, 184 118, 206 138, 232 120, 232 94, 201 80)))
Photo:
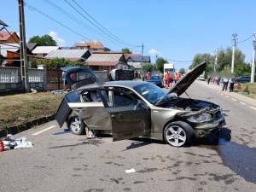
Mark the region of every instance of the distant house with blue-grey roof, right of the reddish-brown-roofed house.
POLYGON ((150 63, 150 56, 140 54, 125 54, 126 62, 129 66, 134 67, 137 73, 141 73, 143 63, 150 63))

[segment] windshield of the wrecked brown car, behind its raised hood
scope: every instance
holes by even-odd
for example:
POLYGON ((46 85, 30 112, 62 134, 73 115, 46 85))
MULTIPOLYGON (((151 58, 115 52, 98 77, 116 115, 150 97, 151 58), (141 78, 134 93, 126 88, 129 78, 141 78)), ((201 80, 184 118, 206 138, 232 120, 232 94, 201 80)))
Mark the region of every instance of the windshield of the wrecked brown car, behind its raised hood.
POLYGON ((151 104, 155 104, 166 96, 166 91, 160 89, 158 86, 154 84, 140 84, 134 87, 141 96, 143 96, 148 102, 151 104))

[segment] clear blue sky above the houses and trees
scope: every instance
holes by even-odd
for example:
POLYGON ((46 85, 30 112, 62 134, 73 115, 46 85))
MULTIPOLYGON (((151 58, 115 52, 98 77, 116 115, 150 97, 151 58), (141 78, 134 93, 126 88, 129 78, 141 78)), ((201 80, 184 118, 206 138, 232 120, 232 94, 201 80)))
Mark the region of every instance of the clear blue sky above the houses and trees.
MULTIPOLYGON (((177 68, 186 68, 195 54, 213 55, 214 49, 231 46, 232 33, 236 32, 238 41, 242 41, 256 32, 255 0, 75 1, 121 40, 109 38, 84 19, 67 4, 73 4, 73 0, 26 0, 26 39, 49 34, 61 46, 99 40, 109 49, 128 47, 134 53, 142 51, 141 47, 134 45, 144 44, 143 55, 150 55, 153 62, 158 55, 173 62, 177 68), (54 18, 72 32, 28 5, 54 18)), ((9 25, 10 31, 19 32, 18 0, 0 0, 0 3, 0 19, 9 25)), ((237 48, 246 55, 246 61, 252 58, 252 42, 253 38, 237 44, 237 48)))

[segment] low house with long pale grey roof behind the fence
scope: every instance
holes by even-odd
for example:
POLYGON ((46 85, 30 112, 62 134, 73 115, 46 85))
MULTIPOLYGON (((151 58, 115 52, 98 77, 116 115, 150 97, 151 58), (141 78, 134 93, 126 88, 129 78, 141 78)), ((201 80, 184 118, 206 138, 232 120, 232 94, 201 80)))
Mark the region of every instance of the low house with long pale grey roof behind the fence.
POLYGON ((45 55, 47 59, 64 58, 68 61, 85 61, 90 56, 88 49, 56 49, 45 55))

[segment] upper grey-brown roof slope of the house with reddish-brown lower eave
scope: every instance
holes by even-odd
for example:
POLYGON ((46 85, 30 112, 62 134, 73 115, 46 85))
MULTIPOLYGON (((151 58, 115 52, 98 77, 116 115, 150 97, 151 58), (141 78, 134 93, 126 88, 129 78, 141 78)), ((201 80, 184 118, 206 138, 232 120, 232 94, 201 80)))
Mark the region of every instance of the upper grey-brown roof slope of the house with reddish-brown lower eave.
POLYGON ((123 54, 121 53, 92 53, 87 61, 119 61, 123 54))

